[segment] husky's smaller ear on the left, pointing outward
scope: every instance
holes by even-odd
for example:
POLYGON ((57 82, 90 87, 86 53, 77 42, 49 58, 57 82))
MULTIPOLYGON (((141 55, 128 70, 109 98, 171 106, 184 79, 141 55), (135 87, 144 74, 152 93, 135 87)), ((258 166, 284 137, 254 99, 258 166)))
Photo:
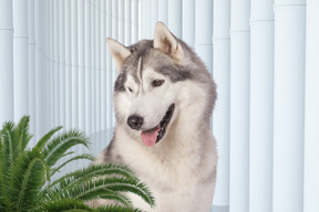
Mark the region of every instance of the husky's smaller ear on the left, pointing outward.
POLYGON ((107 38, 106 42, 111 55, 115 61, 117 72, 120 73, 122 72, 124 61, 131 55, 131 51, 114 39, 107 38))

